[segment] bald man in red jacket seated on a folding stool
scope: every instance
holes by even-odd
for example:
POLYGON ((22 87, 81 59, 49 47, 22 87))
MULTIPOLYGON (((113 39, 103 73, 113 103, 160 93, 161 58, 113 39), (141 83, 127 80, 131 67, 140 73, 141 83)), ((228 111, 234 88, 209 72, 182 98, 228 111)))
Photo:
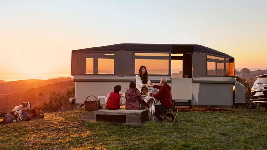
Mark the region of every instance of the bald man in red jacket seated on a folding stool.
MULTIPOLYGON (((149 93, 151 97, 154 98, 159 98, 161 105, 155 105, 155 116, 157 119, 161 122, 163 121, 162 117, 160 116, 159 112, 157 110, 163 110, 163 109, 169 109, 169 108, 174 108, 174 103, 172 100, 172 92, 171 92, 171 87, 169 84, 167 84, 167 78, 161 78, 160 79, 160 85, 154 85, 151 83, 151 85, 154 88, 159 89, 158 93, 153 94, 149 93)), ((172 117, 171 113, 167 113, 167 117, 172 117)), ((173 119, 173 118, 172 118, 173 119)))

